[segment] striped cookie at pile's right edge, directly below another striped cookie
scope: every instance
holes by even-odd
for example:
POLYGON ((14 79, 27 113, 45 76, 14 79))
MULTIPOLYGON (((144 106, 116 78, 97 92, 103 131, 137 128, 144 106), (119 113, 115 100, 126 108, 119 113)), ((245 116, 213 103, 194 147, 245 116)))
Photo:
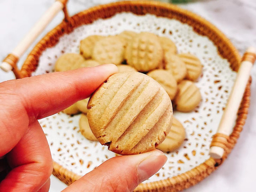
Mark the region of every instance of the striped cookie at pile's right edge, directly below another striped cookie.
POLYGON ((178 91, 175 97, 176 109, 180 112, 190 112, 201 102, 202 96, 195 83, 183 80, 178 84, 178 91))

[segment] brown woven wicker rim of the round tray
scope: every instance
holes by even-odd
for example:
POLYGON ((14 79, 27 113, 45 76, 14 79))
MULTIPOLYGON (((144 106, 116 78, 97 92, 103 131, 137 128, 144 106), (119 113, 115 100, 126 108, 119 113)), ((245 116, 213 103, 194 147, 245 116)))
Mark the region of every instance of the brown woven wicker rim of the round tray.
MULTIPOLYGON (((64 4, 63 11, 65 13, 65 19, 33 48, 25 60, 22 69, 17 69, 16 62, 18 59, 12 55, 9 55, 5 59, 5 61, 12 65, 16 78, 30 76, 31 73, 36 70, 39 58, 43 51, 48 47, 55 46, 62 35, 72 32, 74 28, 81 25, 90 24, 99 18, 109 18, 120 12, 132 12, 137 15, 150 13, 156 16, 176 19, 182 23, 186 23, 192 26, 194 31, 198 34, 208 36, 208 38, 217 47, 219 55, 229 61, 232 70, 237 71, 239 68, 241 60, 240 55, 226 36, 208 21, 177 6, 154 1, 124 1, 96 6, 69 17, 66 9, 67 1, 62 0, 61 2, 64 4)), ((248 107, 250 105, 250 84, 251 78, 245 89, 240 109, 238 111, 236 124, 226 143, 225 154, 222 159, 215 160, 213 158, 209 158, 204 163, 181 175, 161 181, 142 183, 135 191, 181 191, 195 185, 217 169, 231 152, 238 137, 240 136, 240 132, 243 129, 248 113, 248 107)), ((68 185, 80 178, 79 175, 70 172, 56 162, 54 162, 53 175, 68 185)))

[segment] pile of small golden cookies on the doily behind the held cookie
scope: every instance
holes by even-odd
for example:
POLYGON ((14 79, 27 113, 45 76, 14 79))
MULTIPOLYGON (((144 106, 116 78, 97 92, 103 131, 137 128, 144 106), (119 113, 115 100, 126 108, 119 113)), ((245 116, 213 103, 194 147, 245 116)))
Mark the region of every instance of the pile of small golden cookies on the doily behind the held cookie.
MULTIPOLYGON (((116 64, 119 72, 147 74, 161 85, 174 109, 180 112, 193 111, 201 101, 199 88, 194 83, 202 73, 200 60, 189 53, 177 54, 176 45, 169 38, 149 32, 124 31, 115 36, 88 36, 81 41, 80 54, 62 55, 56 61, 55 70, 66 71, 106 63, 116 64)), ((82 112, 81 133, 87 139, 97 141, 86 116, 88 100, 79 101, 63 112, 70 115, 82 112)), ((185 129, 173 117, 173 125, 165 141, 156 146, 164 152, 173 151, 183 143, 184 138, 185 129)))

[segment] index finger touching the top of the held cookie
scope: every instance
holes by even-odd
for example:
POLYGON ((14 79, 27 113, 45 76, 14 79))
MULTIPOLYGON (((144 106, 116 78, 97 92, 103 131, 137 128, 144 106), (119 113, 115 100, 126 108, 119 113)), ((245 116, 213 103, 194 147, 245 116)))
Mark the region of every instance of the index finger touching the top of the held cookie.
POLYGON ((117 71, 107 64, 1 83, 0 157, 18 143, 29 124, 89 97, 117 71))

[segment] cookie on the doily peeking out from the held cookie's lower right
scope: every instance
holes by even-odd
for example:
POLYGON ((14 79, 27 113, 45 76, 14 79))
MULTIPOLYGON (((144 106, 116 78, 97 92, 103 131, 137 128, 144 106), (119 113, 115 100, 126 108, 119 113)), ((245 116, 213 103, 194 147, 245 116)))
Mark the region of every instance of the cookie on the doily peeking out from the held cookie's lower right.
POLYGON ((162 152, 176 150, 184 142, 186 131, 179 120, 172 117, 172 127, 166 139, 157 147, 162 152))

